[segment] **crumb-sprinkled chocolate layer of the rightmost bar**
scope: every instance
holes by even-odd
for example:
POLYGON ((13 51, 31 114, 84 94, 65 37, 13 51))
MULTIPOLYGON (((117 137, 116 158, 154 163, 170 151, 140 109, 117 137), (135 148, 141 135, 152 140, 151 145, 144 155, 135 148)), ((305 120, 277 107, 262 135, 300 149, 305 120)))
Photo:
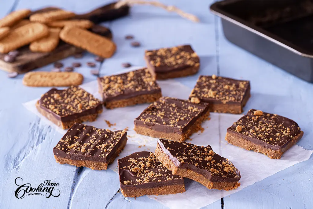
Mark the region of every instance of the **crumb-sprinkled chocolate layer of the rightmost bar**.
POLYGON ((298 136, 301 129, 293 120, 251 109, 245 116, 233 123, 227 132, 237 134, 265 148, 278 150, 287 146, 293 138, 298 136))

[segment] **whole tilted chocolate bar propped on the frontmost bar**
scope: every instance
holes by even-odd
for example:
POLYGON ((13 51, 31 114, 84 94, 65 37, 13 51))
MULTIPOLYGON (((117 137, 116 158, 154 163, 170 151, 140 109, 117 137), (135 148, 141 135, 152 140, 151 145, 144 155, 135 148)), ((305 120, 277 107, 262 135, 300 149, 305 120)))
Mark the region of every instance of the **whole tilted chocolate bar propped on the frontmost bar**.
POLYGON ((173 174, 198 181, 209 189, 232 190, 240 185, 238 169, 211 146, 158 139, 155 154, 173 174))

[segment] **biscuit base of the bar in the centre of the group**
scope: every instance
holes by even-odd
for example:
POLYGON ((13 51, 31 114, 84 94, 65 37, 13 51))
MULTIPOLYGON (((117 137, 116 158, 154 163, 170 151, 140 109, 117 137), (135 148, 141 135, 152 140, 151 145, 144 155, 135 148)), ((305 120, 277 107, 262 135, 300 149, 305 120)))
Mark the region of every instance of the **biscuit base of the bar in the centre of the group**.
POLYGON ((140 126, 135 124, 134 130, 136 133, 139 133, 141 135, 146 135, 146 136, 151 136, 155 138, 166 138, 168 140, 172 141, 185 141, 188 139, 193 133, 198 132, 199 130, 202 129, 201 123, 205 121, 210 115, 210 112, 206 112, 203 116, 198 118, 189 128, 185 133, 179 134, 179 133, 166 133, 162 131, 156 131, 151 128, 145 127, 145 126, 140 126))

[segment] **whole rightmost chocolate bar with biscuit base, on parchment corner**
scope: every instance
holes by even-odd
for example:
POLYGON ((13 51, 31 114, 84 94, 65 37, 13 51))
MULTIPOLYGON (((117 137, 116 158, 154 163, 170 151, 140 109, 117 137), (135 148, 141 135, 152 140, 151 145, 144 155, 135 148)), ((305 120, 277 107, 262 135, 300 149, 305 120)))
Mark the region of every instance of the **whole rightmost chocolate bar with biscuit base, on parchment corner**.
POLYGON ((230 144, 279 159, 302 137, 298 124, 277 114, 251 109, 227 129, 230 144))

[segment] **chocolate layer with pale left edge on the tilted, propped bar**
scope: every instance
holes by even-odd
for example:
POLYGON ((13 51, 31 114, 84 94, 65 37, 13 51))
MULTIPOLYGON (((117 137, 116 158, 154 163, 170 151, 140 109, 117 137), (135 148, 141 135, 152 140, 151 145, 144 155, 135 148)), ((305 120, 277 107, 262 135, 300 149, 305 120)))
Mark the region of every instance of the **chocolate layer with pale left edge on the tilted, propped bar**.
POLYGON ((213 152, 211 146, 197 146, 187 142, 159 138, 158 146, 178 168, 190 169, 211 182, 239 181, 239 170, 226 158, 213 152))

